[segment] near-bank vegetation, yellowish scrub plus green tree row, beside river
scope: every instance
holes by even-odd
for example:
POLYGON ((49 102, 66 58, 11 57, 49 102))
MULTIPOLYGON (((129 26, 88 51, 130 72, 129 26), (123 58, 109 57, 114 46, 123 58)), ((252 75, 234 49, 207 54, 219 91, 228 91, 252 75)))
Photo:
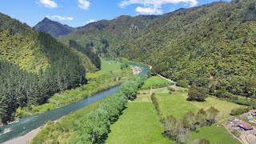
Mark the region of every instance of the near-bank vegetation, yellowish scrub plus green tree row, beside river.
POLYGON ((138 88, 142 86, 143 76, 134 76, 121 85, 120 90, 106 98, 101 104, 93 104, 88 108, 67 115, 59 122, 48 123, 32 143, 102 143, 110 133, 113 124, 126 108, 128 99, 136 98, 138 88), (91 108, 94 107, 92 110, 91 108), (96 108, 98 107, 98 108, 96 108), (88 111, 92 110, 89 114, 88 111), (74 116, 77 116, 74 118, 74 116), (65 125, 68 129, 66 129, 65 125), (62 138, 61 140, 59 138, 62 138))

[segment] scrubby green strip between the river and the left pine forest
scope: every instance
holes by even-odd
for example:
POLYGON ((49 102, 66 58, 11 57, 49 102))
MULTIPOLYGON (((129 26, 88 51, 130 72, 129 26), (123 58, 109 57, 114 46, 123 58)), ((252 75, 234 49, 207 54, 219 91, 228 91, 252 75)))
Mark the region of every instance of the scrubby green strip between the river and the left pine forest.
MULTIPOLYGON (((39 106, 27 106, 22 108, 22 113, 25 114, 40 114, 47 110, 53 110, 60 106, 65 106, 71 102, 77 102, 78 100, 90 97, 102 90, 110 89, 110 87, 117 86, 124 82, 126 78, 130 78, 132 75, 130 69, 115 70, 110 73, 105 70, 105 63, 112 62, 102 59, 103 67, 97 73, 87 73, 86 78, 88 82, 86 85, 79 86, 73 90, 66 90, 62 93, 54 94, 53 97, 49 98, 48 102, 39 106)), ((115 65, 115 64, 113 64, 115 65)))

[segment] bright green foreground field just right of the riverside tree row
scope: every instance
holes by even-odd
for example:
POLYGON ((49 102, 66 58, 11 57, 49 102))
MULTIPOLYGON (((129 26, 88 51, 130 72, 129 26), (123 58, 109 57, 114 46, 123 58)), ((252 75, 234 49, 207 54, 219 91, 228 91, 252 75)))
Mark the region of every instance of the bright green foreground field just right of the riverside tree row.
POLYGON ((118 122, 110 126, 106 143, 174 143, 162 136, 161 122, 148 97, 129 102, 118 122))

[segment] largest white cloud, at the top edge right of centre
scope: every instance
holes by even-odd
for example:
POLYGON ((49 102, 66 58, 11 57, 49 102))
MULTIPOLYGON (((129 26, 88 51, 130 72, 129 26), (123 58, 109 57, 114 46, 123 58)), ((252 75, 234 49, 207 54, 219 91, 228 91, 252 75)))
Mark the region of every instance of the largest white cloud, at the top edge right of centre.
POLYGON ((119 6, 124 8, 126 6, 139 4, 144 7, 138 6, 136 11, 140 14, 162 14, 162 5, 164 4, 189 4, 190 7, 197 6, 198 0, 123 0, 119 6))

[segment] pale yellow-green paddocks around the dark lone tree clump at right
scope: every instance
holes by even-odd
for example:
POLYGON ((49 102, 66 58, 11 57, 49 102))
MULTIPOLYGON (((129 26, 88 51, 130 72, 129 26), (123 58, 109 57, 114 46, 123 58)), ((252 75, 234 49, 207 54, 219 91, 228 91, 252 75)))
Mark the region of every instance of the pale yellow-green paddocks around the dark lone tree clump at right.
POLYGON ((183 114, 188 111, 197 112, 199 109, 207 110, 210 106, 214 106, 220 111, 219 120, 230 117, 230 111, 240 107, 238 104, 219 100, 218 98, 208 97, 206 102, 190 102, 187 101, 187 92, 175 92, 173 94, 164 93, 166 90, 154 90, 157 94, 158 102, 162 114, 167 116, 174 115, 176 118, 182 118, 183 114), (159 91, 159 92, 158 92, 159 91))

